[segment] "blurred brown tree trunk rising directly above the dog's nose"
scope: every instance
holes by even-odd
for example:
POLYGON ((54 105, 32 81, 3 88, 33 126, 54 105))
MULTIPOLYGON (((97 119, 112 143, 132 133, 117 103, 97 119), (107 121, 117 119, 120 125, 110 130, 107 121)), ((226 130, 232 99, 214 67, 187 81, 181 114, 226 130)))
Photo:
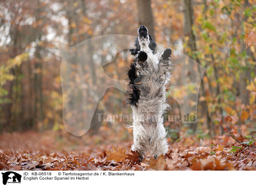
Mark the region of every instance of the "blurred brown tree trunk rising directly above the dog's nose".
POLYGON ((139 25, 148 28, 148 33, 154 39, 154 18, 151 9, 151 0, 137 0, 139 25))

